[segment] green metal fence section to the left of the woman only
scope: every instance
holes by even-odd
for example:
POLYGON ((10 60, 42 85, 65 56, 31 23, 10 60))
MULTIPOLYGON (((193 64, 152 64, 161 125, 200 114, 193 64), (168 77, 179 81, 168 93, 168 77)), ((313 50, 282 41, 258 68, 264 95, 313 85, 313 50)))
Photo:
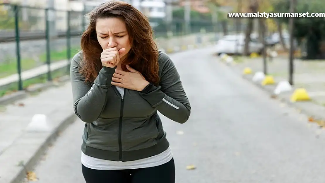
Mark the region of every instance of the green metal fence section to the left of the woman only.
POLYGON ((69 74, 84 14, 0 4, 0 97, 69 74))

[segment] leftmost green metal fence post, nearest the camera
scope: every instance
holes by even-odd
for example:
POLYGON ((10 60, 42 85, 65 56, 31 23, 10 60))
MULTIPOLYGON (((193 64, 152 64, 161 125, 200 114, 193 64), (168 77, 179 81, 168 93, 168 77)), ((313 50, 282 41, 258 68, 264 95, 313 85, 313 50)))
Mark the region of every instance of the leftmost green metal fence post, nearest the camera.
POLYGON ((17 71, 18 71, 18 89, 23 90, 21 80, 21 59, 20 59, 20 35, 19 35, 19 7, 14 5, 15 13, 15 38, 16 38, 16 56, 17 56, 17 71))

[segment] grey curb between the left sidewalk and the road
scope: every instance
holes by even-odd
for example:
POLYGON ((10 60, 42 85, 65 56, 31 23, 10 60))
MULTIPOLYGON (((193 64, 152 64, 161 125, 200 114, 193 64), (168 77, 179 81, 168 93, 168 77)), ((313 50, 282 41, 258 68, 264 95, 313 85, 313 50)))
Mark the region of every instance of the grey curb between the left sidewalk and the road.
MULTIPOLYGON (((50 132, 47 133, 44 141, 37 147, 34 154, 32 154, 24 164, 21 166, 16 175, 6 183, 21 183, 26 177, 26 171, 30 171, 43 157, 44 153, 47 151, 48 147, 54 143, 61 132, 63 132, 70 124, 76 121, 76 115, 74 112, 70 112, 59 124, 50 132)), ((0 182, 1 178, 0 178, 0 182)))

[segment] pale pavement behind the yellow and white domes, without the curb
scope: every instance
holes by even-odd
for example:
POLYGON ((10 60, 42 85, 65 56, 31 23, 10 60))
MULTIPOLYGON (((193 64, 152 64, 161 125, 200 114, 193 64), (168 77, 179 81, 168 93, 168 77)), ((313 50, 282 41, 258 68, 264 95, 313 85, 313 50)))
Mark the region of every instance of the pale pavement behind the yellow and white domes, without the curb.
MULTIPOLYGON (((263 58, 245 58, 232 67, 238 72, 242 72, 245 67, 250 67, 253 73, 263 72, 263 58)), ((305 88, 314 102, 320 105, 325 105, 324 71, 325 61, 294 60, 294 87, 305 88)), ((273 76, 277 83, 289 81, 289 58, 274 58, 273 61, 267 61, 267 73, 273 76)))

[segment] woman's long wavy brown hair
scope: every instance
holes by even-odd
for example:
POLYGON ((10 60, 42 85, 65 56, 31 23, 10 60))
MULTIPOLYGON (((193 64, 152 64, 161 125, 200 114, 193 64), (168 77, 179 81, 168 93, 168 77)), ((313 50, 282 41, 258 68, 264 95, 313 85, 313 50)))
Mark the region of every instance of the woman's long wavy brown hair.
POLYGON ((102 68, 100 54, 103 51, 96 36, 96 21, 103 18, 120 18, 130 37, 131 49, 121 64, 123 71, 130 65, 139 71, 147 81, 158 85, 159 65, 158 48, 153 40, 153 31, 149 20, 132 5, 122 1, 108 1, 100 4, 88 13, 90 24, 81 37, 83 61, 81 73, 86 81, 94 81, 102 68))

